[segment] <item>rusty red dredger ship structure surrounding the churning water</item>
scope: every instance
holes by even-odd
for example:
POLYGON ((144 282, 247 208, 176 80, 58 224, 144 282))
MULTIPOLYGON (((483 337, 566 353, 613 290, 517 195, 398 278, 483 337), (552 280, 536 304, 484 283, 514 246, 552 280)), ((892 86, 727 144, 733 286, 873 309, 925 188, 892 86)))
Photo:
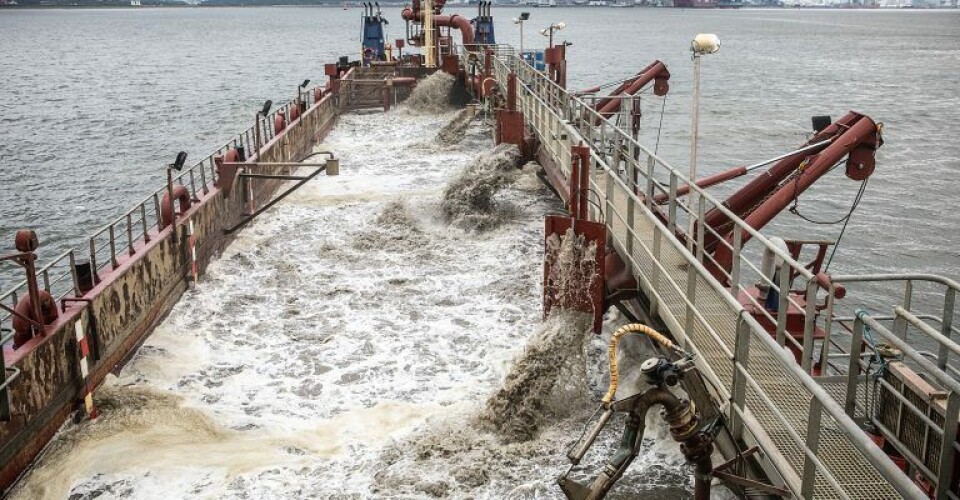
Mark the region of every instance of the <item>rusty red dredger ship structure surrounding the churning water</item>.
MULTIPOLYGON (((0 296, 5 491, 65 423, 97 418, 100 384, 248 222, 351 168, 316 151, 341 117, 389 112, 440 72, 456 79, 451 102, 491 119, 493 142, 539 164, 565 207, 544 222, 544 316, 579 311, 595 333, 611 308, 630 319, 610 335, 610 385, 595 418, 557 450, 570 463, 558 496, 615 491, 645 446, 650 410, 690 464, 697 499, 718 484, 743 497, 960 496, 960 345, 951 339, 960 284, 828 272, 835 242, 763 231, 835 168, 862 195, 883 144, 878 122, 853 111, 815 117, 808 141, 785 146, 795 149, 692 180, 638 140, 639 94, 670 90, 663 62, 615 87, 574 92, 567 44, 551 37, 545 50, 520 53, 496 43, 489 2, 472 19, 443 8, 414 1, 401 13, 405 38, 389 43, 379 6, 364 4, 358 59, 327 64, 323 85, 304 81, 293 100, 251 111, 251 128, 199 162, 176 155, 167 184, 88 245, 40 263, 42 235, 16 234, 2 259, 25 279, 0 296), (748 180, 725 198, 710 189, 737 179, 748 180), (562 269, 559 238, 577 242, 581 272, 562 269), (902 295, 882 315, 856 309, 857 286, 878 282, 902 295), (919 287, 942 309, 913 307, 919 287), (626 336, 649 339, 654 354, 621 360, 626 336), (625 373, 639 374, 639 390, 618 391, 625 373), (614 453, 599 467, 581 464, 614 425, 614 453)), ((718 43, 698 36, 694 58, 718 43)))

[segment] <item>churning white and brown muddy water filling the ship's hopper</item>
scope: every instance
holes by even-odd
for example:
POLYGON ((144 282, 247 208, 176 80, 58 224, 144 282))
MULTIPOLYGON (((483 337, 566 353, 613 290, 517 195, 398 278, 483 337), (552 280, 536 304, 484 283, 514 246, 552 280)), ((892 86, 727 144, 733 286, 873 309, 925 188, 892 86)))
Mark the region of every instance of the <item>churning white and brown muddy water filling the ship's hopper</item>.
MULTIPOLYGON (((603 341, 541 325, 535 166, 436 101, 342 117, 340 175, 245 228, 15 498, 558 498, 603 341)), ((688 487, 649 453, 621 494, 688 487)))

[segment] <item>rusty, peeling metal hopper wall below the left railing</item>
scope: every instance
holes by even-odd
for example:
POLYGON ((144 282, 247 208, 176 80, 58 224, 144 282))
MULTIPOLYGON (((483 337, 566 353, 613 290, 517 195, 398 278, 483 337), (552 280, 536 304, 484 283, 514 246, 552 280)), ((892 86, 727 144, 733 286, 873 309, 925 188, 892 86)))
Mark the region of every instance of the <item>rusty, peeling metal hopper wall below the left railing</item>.
MULTIPOLYGON (((265 162, 295 161, 305 156, 332 127, 339 107, 328 94, 310 108, 283 134, 268 141, 259 156, 265 162)), ((282 174, 287 167, 275 167, 282 174)), ((269 199, 280 180, 254 184, 257 201, 269 199)), ((229 243, 223 229, 244 209, 242 197, 226 199, 216 187, 199 196, 177 221, 192 220, 198 266, 205 269, 212 258, 229 243)), ((118 257, 116 268, 102 273, 101 280, 84 295, 88 302, 71 301, 60 317, 46 328, 46 335, 28 341, 21 349, 6 349, 8 366, 22 370, 22 378, 11 384, 13 417, 0 423, 0 489, 6 490, 39 453, 46 442, 75 409, 81 391, 78 347, 74 324, 93 316, 101 357, 91 367, 90 381, 99 384, 106 375, 136 349, 157 323, 170 311, 187 288, 189 262, 184 258, 186 238, 174 238, 174 227, 152 234, 149 242, 138 242, 138 251, 118 257)))

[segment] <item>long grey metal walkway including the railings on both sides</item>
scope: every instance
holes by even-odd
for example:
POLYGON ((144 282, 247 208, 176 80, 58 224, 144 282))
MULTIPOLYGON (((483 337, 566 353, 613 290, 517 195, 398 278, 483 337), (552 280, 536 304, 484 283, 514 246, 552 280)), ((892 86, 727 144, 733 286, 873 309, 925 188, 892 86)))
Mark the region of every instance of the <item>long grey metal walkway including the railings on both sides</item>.
POLYGON ((590 197, 597 202, 593 217, 605 222, 614 246, 650 300, 652 312, 660 315, 685 349, 704 362, 708 381, 729 402, 726 413, 733 433, 764 449, 776 469, 771 475, 781 476, 803 498, 922 496, 810 376, 816 297, 822 289, 817 276, 696 185, 690 188, 697 200, 691 206, 688 198, 677 194, 681 185, 690 184, 677 168, 510 49, 498 47, 495 52, 498 83, 505 88, 508 74, 516 73, 526 124, 565 176, 570 174, 571 147, 589 146, 590 197), (664 203, 654 201, 658 195, 664 203), (729 219, 731 238, 699 224, 709 210, 729 219), (685 244, 677 236, 678 228, 694 225, 706 232, 697 231, 695 239, 688 237, 685 244), (721 265, 703 250, 705 234, 725 247, 732 256, 731 265, 721 265), (745 236, 760 253, 780 261, 782 271, 771 275, 759 269, 754 264, 758 252, 744 249, 745 236), (799 339, 787 331, 785 314, 771 314, 748 293, 757 285, 778 293, 778 310, 793 307, 803 313, 799 339), (805 304, 796 300, 789 293, 794 287, 811 300, 805 304), (760 319, 775 325, 773 337, 738 298, 753 305, 760 319), (784 346, 800 353, 800 364, 784 346), (864 481, 868 476, 878 482, 864 481))

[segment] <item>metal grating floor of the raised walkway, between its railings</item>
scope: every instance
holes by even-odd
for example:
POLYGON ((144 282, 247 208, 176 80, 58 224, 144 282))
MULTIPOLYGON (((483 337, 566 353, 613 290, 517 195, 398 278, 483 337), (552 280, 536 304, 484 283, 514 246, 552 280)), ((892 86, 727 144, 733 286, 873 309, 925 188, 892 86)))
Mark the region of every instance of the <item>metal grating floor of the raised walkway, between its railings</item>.
MULTIPOLYGON (((685 292, 689 277, 688 261, 676 247, 665 241, 661 241, 659 245, 659 258, 654 259, 654 239, 657 230, 651 219, 652 214, 642 205, 635 204, 633 230, 629 231, 626 225, 627 195, 623 191, 618 195, 614 190, 615 194, 610 200, 612 203, 607 204, 605 193, 608 190, 605 179, 604 175, 594 175, 593 184, 597 186, 600 205, 605 207, 612 205, 613 213, 606 214, 606 223, 613 235, 614 244, 622 252, 621 255, 626 255, 627 241, 631 237, 634 238, 632 255, 633 263, 636 265, 635 273, 640 278, 638 281, 647 284, 648 289, 644 291, 648 295, 659 296, 661 317, 668 325, 678 325, 681 330, 673 333, 678 338, 683 338, 683 325, 686 324, 688 310, 685 292), (659 286, 654 287, 658 279, 659 286)), ((610 208, 607 210, 609 211, 610 208)), ((695 279, 696 309, 703 320, 693 318, 693 330, 686 335, 692 345, 686 347, 698 353, 703 360, 701 367, 712 372, 712 378, 719 383, 720 387, 732 387, 734 367, 728 353, 733 353, 736 348, 737 322, 740 313, 733 310, 728 301, 706 283, 706 279, 712 278, 697 274, 695 279)), ((750 371, 754 372, 754 377, 763 392, 775 395, 777 407, 786 417, 793 431, 799 436, 806 436, 810 402, 813 396, 794 381, 777 357, 763 347, 759 343, 751 345, 748 361, 750 371), (757 373, 762 375, 757 376, 757 373)), ((746 391, 746 406, 765 431, 766 437, 772 441, 790 466, 796 471, 803 471, 802 447, 790 435, 787 425, 768 409, 759 392, 753 388, 748 388, 746 391)), ((762 439, 759 436, 755 438, 758 441, 762 439)), ((846 435, 829 415, 822 416, 817 456, 850 498, 863 500, 901 498, 901 495, 890 486, 879 471, 850 444, 846 435)), ((838 497, 838 492, 833 491, 832 485, 820 473, 816 477, 814 492, 813 498, 838 497)))

